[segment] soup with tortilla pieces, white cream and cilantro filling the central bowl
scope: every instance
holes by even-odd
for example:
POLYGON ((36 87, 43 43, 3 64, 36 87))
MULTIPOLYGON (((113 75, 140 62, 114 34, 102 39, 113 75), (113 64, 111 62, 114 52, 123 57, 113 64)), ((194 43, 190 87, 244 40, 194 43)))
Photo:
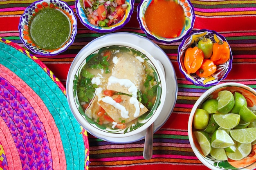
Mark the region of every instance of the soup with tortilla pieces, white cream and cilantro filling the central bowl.
POLYGON ((109 46, 86 60, 75 80, 85 117, 101 126, 124 129, 150 114, 160 82, 144 54, 109 46))

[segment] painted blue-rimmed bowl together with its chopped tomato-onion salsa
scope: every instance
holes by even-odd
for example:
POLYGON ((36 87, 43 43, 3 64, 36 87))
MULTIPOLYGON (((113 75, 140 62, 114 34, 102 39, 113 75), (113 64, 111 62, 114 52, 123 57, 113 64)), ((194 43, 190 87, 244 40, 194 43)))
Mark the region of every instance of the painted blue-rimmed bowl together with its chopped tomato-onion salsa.
POLYGON ((76 0, 81 23, 98 33, 111 33, 130 21, 134 0, 76 0))

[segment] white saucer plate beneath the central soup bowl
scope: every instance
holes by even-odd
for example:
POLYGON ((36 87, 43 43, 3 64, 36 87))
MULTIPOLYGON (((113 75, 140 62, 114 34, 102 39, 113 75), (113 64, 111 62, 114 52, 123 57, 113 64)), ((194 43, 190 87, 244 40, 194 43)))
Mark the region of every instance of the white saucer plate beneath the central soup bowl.
MULTIPOLYGON (((177 77, 176 77, 173 65, 171 64, 171 61, 169 60, 166 53, 164 53, 164 51, 159 46, 157 46, 157 44, 153 43, 147 38, 142 37, 141 35, 137 35, 134 33, 120 32, 120 33, 110 33, 107 35, 103 35, 93 40, 89 44, 87 44, 85 48, 83 48, 79 53, 83 53, 83 51, 93 48, 95 44, 101 44, 106 41, 115 42, 116 44, 118 44, 118 42, 132 43, 144 49, 145 51, 150 53, 156 60, 159 60, 159 62, 162 63, 165 71, 167 94, 166 94, 166 99, 164 102, 164 107, 162 109, 162 112, 154 122, 154 133, 155 133, 157 130, 159 130, 159 128, 161 128, 164 125, 164 123, 170 117, 177 99, 177 77)), ((70 77, 68 77, 68 79, 70 79, 70 77)), ((99 139, 112 142, 112 143, 119 143, 119 144, 136 142, 141 139, 144 139, 146 135, 146 130, 144 130, 139 134, 132 135, 129 137, 113 138, 113 137, 103 136, 95 132, 90 132, 89 130, 87 131, 99 139)))

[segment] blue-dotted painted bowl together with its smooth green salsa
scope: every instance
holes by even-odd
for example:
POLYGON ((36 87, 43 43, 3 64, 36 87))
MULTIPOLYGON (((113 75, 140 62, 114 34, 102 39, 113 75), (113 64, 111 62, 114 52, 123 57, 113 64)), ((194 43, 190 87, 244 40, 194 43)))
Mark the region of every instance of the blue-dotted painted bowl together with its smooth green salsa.
POLYGON ((61 0, 38 0, 27 7, 18 26, 20 40, 27 49, 54 56, 74 42, 77 28, 74 11, 61 0))

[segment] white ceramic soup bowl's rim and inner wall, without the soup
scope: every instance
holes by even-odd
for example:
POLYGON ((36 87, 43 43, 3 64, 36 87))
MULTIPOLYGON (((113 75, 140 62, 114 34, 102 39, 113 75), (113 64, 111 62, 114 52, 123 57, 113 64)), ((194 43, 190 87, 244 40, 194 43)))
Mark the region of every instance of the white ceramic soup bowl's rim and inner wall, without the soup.
MULTIPOLYGON (((119 33, 112 33, 111 36, 120 35, 119 33)), ((106 35, 105 35, 106 36, 106 35)), ((110 36, 110 35, 108 35, 110 36)), ((89 44, 87 44, 74 58, 74 61, 72 62, 72 65, 70 66, 70 70, 67 76, 67 99, 70 106, 70 109, 76 118, 76 120, 81 124, 83 128, 85 128, 88 132, 90 132, 92 135, 96 137, 101 137, 102 139, 105 139, 106 137, 111 138, 124 138, 129 137, 132 135, 136 135, 142 131, 144 131, 148 126, 150 126, 159 116, 163 106, 164 101, 166 98, 166 82, 165 82, 165 76, 164 71, 162 70, 162 67, 159 65, 157 60, 154 59, 152 55, 150 55, 147 51, 142 49, 141 47, 131 43, 126 42, 124 40, 115 41, 115 42, 101 42, 98 43, 98 39, 101 40, 102 37, 99 37, 89 44), (112 128, 99 128, 99 125, 96 122, 93 122, 92 119, 89 119, 88 117, 85 117, 81 115, 79 112, 79 109, 81 109, 81 105, 77 102, 77 94, 76 91, 74 91, 74 81, 76 80, 76 76, 79 76, 81 68, 85 65, 86 62, 88 62, 88 56, 91 54, 98 53, 99 49, 103 47, 109 47, 109 46, 125 46, 128 49, 135 49, 148 58, 148 63, 153 66, 155 69, 155 72, 157 73, 157 79, 161 84, 159 87, 161 89, 157 90, 157 99, 154 105, 155 110, 151 110, 150 113, 143 119, 140 120, 141 125, 136 124, 131 125, 129 127, 126 127, 122 130, 112 129, 112 128), (131 128, 132 127, 132 128, 131 128), (135 128, 137 127, 137 128, 135 128)))

